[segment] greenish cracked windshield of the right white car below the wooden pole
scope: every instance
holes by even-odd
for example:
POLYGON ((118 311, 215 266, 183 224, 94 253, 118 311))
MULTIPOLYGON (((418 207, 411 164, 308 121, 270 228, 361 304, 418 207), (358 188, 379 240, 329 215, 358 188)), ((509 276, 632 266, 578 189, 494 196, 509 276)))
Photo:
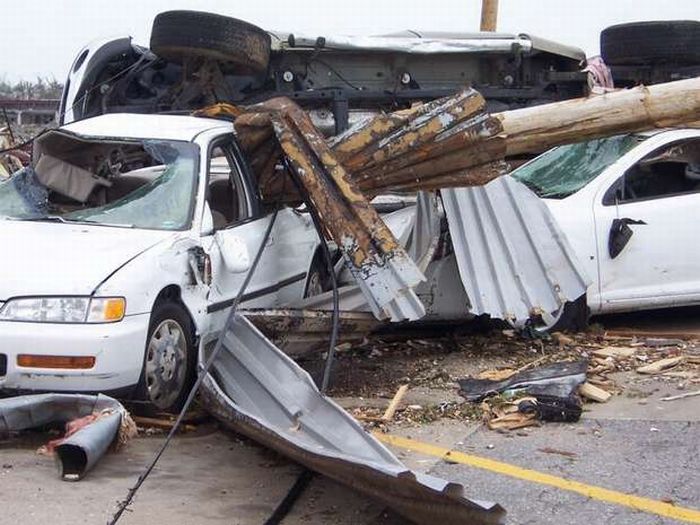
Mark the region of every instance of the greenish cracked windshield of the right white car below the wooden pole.
POLYGON ((559 146, 514 170, 511 176, 540 197, 563 199, 600 175, 645 137, 618 135, 559 146))

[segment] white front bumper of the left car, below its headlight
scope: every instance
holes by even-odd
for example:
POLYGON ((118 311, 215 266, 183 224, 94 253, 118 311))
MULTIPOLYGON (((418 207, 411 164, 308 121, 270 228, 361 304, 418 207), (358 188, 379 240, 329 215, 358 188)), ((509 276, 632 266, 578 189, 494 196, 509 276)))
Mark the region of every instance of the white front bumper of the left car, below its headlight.
POLYGON ((138 383, 148 333, 148 314, 111 324, 0 322, 0 390, 108 392, 138 383), (18 366, 17 356, 94 356, 88 369, 18 366), (1 363, 0 363, 1 364, 1 363))

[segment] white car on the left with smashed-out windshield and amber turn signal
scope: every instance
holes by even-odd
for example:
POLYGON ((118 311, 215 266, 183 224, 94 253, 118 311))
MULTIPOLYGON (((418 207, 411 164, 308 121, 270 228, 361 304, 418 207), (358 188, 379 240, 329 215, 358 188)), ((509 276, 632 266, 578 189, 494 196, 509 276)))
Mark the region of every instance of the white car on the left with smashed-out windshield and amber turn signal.
MULTIPOLYGON (((271 220, 232 131, 113 114, 36 141, 33 168, 0 185, 0 389, 182 403, 271 220)), ((303 298, 318 245, 282 209, 245 306, 303 298)))

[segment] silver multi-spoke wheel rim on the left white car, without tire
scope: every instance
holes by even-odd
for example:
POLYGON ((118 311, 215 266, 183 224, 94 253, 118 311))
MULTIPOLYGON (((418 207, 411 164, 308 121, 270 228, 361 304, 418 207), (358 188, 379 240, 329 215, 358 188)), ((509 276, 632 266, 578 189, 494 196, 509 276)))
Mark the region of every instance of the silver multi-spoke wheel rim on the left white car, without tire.
POLYGON ((146 347, 146 388, 155 406, 167 409, 177 400, 187 376, 187 338, 177 321, 166 319, 146 347))

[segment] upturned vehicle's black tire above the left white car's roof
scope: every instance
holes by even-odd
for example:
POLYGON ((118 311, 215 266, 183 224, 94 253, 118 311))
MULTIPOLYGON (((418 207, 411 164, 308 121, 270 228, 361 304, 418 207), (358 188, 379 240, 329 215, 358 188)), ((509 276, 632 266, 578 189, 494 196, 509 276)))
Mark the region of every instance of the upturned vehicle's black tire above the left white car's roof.
POLYGON ((227 16, 165 11, 153 21, 151 51, 173 62, 201 57, 230 64, 238 73, 264 73, 270 62, 270 35, 227 16))

